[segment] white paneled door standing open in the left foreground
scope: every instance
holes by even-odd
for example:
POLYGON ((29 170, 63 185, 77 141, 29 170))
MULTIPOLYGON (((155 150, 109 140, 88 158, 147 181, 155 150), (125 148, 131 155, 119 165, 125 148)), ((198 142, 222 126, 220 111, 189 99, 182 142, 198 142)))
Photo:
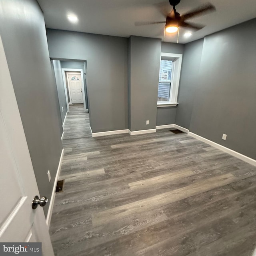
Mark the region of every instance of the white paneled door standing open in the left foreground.
POLYGON ((42 242, 44 256, 54 256, 28 145, 0 38, 0 242, 42 242))

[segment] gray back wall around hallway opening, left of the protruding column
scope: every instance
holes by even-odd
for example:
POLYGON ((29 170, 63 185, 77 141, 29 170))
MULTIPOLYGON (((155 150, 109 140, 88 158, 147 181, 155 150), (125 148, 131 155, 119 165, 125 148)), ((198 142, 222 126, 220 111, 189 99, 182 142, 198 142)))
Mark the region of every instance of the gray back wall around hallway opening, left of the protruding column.
POLYGON ((47 30, 50 57, 86 60, 92 132, 128 128, 128 38, 47 30))

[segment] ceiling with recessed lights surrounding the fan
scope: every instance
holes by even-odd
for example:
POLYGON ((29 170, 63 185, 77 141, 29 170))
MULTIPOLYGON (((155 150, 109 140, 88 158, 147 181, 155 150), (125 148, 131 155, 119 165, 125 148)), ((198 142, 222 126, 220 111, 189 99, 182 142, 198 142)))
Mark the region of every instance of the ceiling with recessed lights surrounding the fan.
MULTIPOLYGON (((187 43, 205 35, 228 28, 235 24, 256 18, 256 0, 209 0, 216 12, 188 20, 206 25, 184 38, 184 28, 180 29, 179 43, 187 43)), ((182 15, 196 8, 206 0, 181 0, 176 10, 182 15)), ((45 17, 46 27, 104 34, 110 36, 145 36, 162 38, 164 24, 135 26, 134 22, 165 21, 160 9, 171 11, 168 0, 38 0, 45 17), (161 6, 161 7, 160 7, 161 6), (75 14, 78 23, 72 24, 67 15, 75 14)), ((166 42, 177 42, 177 33, 166 34, 166 42)))

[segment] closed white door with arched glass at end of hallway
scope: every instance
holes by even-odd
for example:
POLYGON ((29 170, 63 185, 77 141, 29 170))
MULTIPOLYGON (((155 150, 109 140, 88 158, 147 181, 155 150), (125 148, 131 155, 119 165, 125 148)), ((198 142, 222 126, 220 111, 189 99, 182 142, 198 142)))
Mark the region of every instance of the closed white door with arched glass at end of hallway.
POLYGON ((82 81, 80 73, 68 73, 71 104, 83 103, 82 81))

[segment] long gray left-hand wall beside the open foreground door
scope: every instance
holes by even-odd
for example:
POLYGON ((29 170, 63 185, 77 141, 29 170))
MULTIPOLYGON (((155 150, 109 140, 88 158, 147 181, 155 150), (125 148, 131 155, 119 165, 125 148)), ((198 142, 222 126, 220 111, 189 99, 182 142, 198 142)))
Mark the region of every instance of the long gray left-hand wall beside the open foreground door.
POLYGON ((44 16, 37 2, 1 0, 0 34, 40 196, 50 199, 62 144, 44 16))

